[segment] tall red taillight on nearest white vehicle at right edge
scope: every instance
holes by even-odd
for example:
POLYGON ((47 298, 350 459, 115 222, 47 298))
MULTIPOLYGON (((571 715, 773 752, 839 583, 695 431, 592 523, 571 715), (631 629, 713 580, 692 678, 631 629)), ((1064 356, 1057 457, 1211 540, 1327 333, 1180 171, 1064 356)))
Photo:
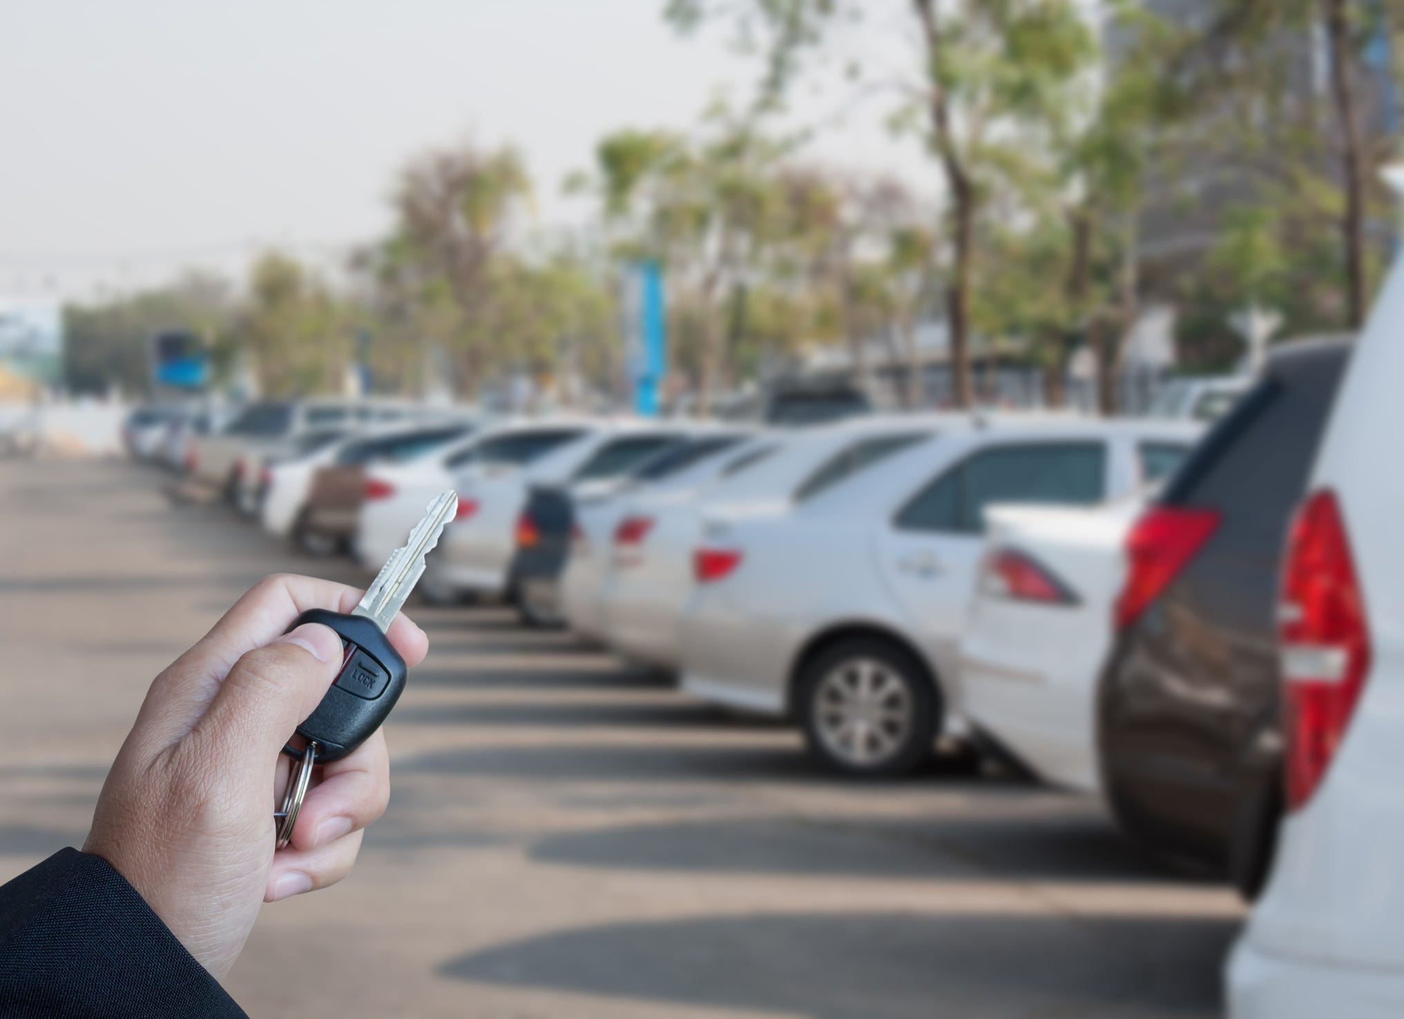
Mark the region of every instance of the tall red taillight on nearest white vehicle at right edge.
POLYGON ((1365 599, 1330 491, 1310 495, 1292 524, 1279 627, 1287 808, 1300 810, 1341 745, 1370 667, 1365 599))

